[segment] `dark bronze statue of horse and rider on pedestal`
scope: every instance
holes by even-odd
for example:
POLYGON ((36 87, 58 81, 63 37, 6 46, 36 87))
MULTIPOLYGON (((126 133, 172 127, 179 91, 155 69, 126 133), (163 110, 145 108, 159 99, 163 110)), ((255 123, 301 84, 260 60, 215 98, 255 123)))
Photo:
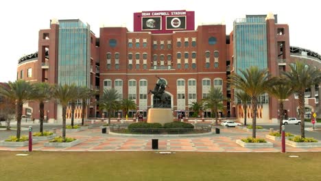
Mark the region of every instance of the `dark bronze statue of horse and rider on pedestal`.
POLYGON ((158 80, 154 90, 150 90, 150 93, 152 93, 156 99, 160 99, 160 103, 154 104, 154 108, 171 108, 170 96, 165 93, 166 82, 160 77, 158 77, 158 80))

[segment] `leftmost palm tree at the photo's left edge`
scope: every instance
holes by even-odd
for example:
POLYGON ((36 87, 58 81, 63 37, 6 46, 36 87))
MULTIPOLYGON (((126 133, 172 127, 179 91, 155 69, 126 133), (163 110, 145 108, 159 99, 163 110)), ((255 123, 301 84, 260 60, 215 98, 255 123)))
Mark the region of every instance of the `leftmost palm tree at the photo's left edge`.
POLYGON ((20 139, 21 134, 21 116, 23 104, 32 99, 34 87, 25 80, 16 80, 8 82, 8 86, 0 86, 0 94, 16 102, 16 138, 20 139))

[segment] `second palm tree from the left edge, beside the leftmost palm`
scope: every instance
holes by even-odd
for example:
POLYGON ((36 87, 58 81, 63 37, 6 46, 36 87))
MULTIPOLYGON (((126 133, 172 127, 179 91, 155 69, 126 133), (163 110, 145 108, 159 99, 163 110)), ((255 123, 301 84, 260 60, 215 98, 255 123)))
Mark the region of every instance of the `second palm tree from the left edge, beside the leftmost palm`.
POLYGON ((39 102, 40 132, 41 134, 43 134, 43 120, 45 119, 45 101, 51 99, 53 87, 45 82, 37 82, 36 84, 34 84, 34 88, 35 91, 32 99, 39 102))

